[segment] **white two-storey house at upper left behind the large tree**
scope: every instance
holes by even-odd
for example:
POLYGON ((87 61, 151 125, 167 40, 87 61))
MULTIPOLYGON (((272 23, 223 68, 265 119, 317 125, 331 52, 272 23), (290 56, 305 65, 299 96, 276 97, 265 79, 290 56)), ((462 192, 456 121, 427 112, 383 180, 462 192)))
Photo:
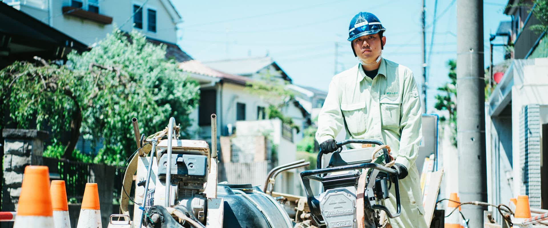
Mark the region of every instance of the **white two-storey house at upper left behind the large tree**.
MULTIPOLYGON (((140 31, 150 43, 165 45, 166 57, 173 57, 175 61, 184 62, 192 59, 176 44, 177 25, 182 19, 169 0, 4 0, 3 2, 21 13, 34 17, 33 19, 40 21, 44 26, 53 27, 52 30, 67 34, 70 40, 79 40, 78 44, 82 42, 85 46, 93 46, 117 26, 126 32, 140 31)), ((76 42, 65 43, 65 46, 68 46, 76 42)), ((66 55, 70 49, 62 49, 58 52, 66 55)), ((94 154, 102 147, 101 141, 96 142, 94 148, 91 145, 89 140, 81 137, 76 149, 83 153, 94 154)))

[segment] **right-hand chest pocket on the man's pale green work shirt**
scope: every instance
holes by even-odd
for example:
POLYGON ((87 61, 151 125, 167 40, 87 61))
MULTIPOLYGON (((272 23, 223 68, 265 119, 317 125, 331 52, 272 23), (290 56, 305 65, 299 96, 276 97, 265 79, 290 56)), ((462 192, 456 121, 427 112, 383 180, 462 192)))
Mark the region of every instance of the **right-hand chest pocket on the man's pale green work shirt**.
POLYGON ((402 99, 399 96, 380 97, 380 111, 383 128, 399 128, 402 99))

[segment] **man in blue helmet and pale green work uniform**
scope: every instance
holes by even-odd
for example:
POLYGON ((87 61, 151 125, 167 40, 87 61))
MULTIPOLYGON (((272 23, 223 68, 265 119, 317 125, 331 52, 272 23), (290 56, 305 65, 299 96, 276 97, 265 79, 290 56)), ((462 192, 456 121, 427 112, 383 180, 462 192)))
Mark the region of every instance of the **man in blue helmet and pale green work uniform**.
MULTIPOLYGON (((392 227, 426 226, 415 159, 421 133, 421 104, 413 72, 381 57, 386 37, 379 19, 361 12, 350 22, 349 38, 358 65, 333 77, 318 116, 316 140, 324 153, 336 150, 334 138, 376 139, 392 148, 398 170, 402 213, 392 227)), ((361 145, 350 144, 350 148, 361 145)), ((395 188, 385 206, 396 212, 395 188)))

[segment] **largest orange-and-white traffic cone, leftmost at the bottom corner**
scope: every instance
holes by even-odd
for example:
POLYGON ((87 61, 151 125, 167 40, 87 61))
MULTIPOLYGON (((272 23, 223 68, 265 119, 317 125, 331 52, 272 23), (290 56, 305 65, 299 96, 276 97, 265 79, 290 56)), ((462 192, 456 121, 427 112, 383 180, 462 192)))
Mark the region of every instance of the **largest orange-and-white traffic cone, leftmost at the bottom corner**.
POLYGON ((19 206, 13 227, 54 227, 47 166, 25 167, 19 206))

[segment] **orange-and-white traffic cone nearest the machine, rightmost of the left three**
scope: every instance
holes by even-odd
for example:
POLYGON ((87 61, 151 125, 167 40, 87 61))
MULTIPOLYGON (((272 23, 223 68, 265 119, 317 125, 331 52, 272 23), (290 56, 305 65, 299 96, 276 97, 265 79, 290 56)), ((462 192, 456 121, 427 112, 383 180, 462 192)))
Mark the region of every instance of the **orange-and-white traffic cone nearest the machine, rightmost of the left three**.
POLYGON ((99 190, 96 183, 85 184, 82 208, 78 217, 77 228, 102 227, 101 211, 99 207, 99 190))

